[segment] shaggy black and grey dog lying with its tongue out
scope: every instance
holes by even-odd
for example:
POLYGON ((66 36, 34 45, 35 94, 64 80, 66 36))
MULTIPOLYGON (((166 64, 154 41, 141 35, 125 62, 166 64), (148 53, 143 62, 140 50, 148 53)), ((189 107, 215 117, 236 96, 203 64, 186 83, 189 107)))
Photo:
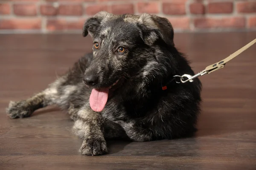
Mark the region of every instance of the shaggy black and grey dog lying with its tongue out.
POLYGON ((177 83, 173 77, 194 72, 175 47, 169 20, 99 12, 84 23, 83 36, 88 34, 92 52, 47 89, 10 101, 10 118, 57 104, 74 121, 81 154, 93 156, 108 153, 110 139, 143 142, 195 134, 201 82, 177 83))

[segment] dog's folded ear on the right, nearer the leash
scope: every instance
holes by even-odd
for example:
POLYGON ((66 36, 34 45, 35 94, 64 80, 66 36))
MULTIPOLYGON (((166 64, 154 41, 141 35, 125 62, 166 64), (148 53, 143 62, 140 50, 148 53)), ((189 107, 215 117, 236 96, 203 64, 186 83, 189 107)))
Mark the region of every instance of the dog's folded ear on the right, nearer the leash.
POLYGON ((143 25, 145 25, 143 29, 145 43, 151 45, 158 38, 161 38, 165 43, 174 46, 174 31, 169 20, 153 14, 141 14, 140 19, 143 20, 143 25))

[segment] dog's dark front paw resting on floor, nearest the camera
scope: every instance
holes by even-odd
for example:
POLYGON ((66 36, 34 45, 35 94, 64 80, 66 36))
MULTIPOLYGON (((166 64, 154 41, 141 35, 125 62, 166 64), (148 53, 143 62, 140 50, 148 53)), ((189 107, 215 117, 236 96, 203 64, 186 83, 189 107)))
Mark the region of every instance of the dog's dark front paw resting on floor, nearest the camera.
POLYGON ((80 152, 83 155, 103 155, 108 153, 107 143, 104 138, 85 138, 80 152))

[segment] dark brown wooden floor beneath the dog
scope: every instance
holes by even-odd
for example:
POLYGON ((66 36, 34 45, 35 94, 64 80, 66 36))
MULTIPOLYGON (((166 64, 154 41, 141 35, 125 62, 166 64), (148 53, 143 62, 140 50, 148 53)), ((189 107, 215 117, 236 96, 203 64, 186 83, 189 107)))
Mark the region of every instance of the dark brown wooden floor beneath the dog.
MULTIPOLYGON (((256 32, 176 34, 195 72, 226 58, 256 32)), ((202 112, 194 138, 109 141, 105 156, 81 156, 73 122, 58 108, 11 120, 10 100, 47 87, 91 50, 82 35, 0 35, 0 170, 256 170, 256 45, 201 77, 202 112)))

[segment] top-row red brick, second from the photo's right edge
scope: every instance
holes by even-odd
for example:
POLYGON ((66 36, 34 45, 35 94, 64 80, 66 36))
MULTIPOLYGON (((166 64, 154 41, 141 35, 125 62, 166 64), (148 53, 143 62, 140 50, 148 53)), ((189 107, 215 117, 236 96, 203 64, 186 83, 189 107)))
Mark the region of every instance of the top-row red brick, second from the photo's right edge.
POLYGON ((233 2, 216 2, 208 4, 208 12, 211 14, 229 14, 233 12, 233 2))

